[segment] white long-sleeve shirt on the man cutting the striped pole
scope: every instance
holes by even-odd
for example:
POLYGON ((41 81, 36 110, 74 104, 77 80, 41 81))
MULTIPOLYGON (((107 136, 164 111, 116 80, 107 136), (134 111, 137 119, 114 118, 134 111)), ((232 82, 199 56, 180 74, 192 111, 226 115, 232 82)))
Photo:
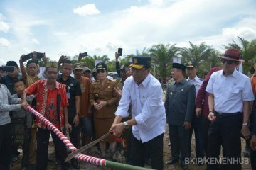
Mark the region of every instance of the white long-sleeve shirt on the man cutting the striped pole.
POLYGON ((127 111, 132 101, 132 118, 137 122, 132 126, 132 134, 143 143, 165 131, 166 113, 162 94, 161 84, 151 74, 139 86, 132 76, 124 81, 122 98, 115 115, 123 118, 129 116, 127 111))

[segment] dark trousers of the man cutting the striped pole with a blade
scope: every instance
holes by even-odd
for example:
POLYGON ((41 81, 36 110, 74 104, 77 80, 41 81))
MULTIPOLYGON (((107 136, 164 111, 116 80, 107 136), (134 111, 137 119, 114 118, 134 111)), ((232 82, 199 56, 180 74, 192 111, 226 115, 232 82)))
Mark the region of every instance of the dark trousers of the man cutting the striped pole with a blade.
POLYGON ((152 169, 164 169, 163 165, 163 137, 164 133, 142 143, 132 135, 132 165, 144 167, 145 154, 151 159, 152 169))

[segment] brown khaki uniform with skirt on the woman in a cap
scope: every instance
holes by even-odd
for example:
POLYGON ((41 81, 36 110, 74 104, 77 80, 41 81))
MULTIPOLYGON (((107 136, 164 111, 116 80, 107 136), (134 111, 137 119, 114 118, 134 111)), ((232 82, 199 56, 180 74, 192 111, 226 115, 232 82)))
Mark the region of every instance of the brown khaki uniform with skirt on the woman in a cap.
MULTIPOLYGON (((90 89, 90 103, 91 106, 97 101, 107 101, 107 105, 100 110, 93 110, 93 120, 95 126, 95 138, 105 135, 114 121, 114 112, 117 110, 119 102, 118 94, 114 91, 117 87, 117 82, 107 79, 104 86, 100 81, 92 82, 90 89)), ((104 142, 114 142, 113 137, 107 137, 104 142)))

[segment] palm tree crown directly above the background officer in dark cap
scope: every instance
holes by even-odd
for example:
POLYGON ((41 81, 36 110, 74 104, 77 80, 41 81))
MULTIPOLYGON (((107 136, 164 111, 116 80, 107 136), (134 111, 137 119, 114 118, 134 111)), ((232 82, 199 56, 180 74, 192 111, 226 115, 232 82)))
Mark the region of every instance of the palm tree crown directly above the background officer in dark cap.
POLYGON ((189 61, 196 62, 198 68, 203 64, 203 61, 207 61, 213 52, 213 48, 206 45, 205 42, 202 42, 200 45, 193 45, 192 42, 189 42, 190 48, 182 48, 182 62, 187 63, 189 61))

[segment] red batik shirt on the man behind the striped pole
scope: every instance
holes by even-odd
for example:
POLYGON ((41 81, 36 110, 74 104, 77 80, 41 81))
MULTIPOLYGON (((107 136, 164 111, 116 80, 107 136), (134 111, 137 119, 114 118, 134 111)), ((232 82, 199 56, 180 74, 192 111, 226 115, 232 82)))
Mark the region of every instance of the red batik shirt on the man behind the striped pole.
MULTIPOLYGON (((28 88, 25 89, 26 94, 35 94, 36 96, 36 111, 38 113, 42 114, 43 109, 43 98, 45 94, 45 87, 46 86, 46 79, 41 79, 36 81, 36 83, 32 84, 31 86, 28 86, 28 88)), ((66 108, 68 106, 68 97, 65 91, 65 84, 60 84, 56 81, 55 88, 50 90, 47 87, 47 99, 46 99, 46 111, 44 114, 44 117, 47 118, 50 123, 53 123, 56 128, 63 130, 65 127, 65 118, 63 114, 63 108, 66 108), (57 95, 60 95, 60 108, 59 113, 57 109, 57 95)), ((36 124, 40 125, 41 121, 36 118, 36 124)), ((46 125, 42 123, 41 128, 46 128, 46 125)))

